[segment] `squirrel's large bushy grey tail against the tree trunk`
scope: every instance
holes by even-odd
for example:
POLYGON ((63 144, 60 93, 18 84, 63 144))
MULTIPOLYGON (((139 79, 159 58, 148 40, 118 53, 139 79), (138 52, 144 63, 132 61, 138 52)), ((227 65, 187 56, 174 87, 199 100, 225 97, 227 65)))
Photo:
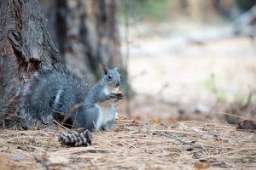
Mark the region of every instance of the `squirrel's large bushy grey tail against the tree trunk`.
POLYGON ((68 109, 83 103, 89 85, 86 78, 65 65, 44 65, 23 90, 20 116, 31 127, 46 127, 53 117, 61 122, 68 109))

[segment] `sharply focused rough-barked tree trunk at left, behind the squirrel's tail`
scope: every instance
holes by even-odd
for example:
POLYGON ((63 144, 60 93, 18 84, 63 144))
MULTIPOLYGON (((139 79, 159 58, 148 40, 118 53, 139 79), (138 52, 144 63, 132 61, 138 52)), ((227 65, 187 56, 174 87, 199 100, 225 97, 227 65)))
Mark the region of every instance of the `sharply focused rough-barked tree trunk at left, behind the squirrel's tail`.
POLYGON ((0 125, 15 123, 21 89, 40 65, 59 52, 49 37, 37 0, 0 1, 0 125))

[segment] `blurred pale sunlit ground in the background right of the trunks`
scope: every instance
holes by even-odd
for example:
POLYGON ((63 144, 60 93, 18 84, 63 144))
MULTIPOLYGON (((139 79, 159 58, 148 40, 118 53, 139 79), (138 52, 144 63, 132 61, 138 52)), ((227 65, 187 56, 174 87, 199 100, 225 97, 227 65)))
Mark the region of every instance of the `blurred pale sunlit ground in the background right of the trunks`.
MULTIPOLYGON (((256 43, 250 37, 230 36, 224 26, 190 27, 131 28, 131 116, 143 121, 226 122, 224 113, 229 113, 256 120, 252 108, 231 111, 245 105, 255 89, 256 43)), ((254 104, 253 97, 250 106, 254 104)), ((124 105, 119 112, 125 115, 124 105)))

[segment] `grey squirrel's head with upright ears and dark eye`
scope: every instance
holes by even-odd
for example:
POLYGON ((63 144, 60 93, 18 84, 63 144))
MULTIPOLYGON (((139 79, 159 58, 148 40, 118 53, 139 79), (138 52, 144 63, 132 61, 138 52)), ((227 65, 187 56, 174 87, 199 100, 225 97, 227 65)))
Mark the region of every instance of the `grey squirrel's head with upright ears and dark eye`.
POLYGON ((102 69, 104 71, 103 79, 108 83, 108 86, 118 88, 121 81, 119 71, 116 68, 110 70, 107 65, 102 65, 102 69))

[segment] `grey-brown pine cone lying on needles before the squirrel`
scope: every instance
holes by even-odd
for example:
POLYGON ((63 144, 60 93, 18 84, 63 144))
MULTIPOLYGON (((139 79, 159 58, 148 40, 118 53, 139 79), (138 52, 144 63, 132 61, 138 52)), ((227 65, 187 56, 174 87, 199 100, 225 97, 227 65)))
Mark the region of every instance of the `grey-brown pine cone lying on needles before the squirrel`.
POLYGON ((89 130, 78 133, 75 131, 69 131, 67 133, 59 133, 57 137, 61 144, 79 147, 79 146, 90 146, 91 145, 91 133, 89 130))

